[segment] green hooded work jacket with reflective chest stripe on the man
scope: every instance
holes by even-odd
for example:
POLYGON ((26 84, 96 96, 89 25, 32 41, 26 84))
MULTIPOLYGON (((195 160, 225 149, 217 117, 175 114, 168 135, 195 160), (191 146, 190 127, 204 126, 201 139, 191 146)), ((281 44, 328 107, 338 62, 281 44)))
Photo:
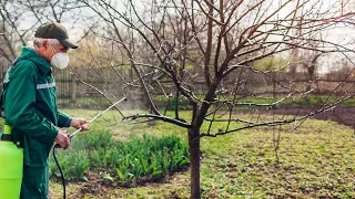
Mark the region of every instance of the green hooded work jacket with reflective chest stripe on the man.
POLYGON ((23 146, 24 165, 43 167, 48 165, 57 127, 69 127, 71 118, 57 109, 50 64, 32 49, 23 48, 19 57, 23 56, 4 77, 4 122, 12 126, 14 142, 23 146))

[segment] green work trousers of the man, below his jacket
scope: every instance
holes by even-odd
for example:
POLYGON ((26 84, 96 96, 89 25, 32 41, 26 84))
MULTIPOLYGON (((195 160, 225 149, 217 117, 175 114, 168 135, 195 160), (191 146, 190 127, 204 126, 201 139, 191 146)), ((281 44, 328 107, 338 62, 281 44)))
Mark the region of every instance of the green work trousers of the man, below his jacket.
POLYGON ((47 199, 45 167, 23 166, 20 199, 47 199))

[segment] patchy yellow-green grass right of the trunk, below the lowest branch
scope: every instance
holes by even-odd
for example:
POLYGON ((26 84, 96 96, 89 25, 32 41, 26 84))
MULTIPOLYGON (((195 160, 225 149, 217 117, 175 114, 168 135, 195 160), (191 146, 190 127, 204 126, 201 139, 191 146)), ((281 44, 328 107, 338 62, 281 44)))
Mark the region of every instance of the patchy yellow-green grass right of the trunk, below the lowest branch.
POLYGON ((274 154, 274 133, 278 130, 258 128, 202 139, 202 181, 207 198, 355 196, 351 129, 321 121, 308 121, 294 133, 282 129, 280 163, 274 154))

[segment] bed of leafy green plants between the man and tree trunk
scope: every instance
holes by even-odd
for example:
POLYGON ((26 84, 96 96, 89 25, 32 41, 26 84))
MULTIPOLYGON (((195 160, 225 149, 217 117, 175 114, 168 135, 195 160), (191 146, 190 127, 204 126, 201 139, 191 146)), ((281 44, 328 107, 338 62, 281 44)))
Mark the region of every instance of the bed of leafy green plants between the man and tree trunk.
MULTIPOLYGON (((105 170, 119 181, 131 181, 133 178, 139 181, 142 177, 159 178, 190 163, 187 144, 181 143, 175 135, 161 138, 143 135, 131 142, 115 143, 109 132, 102 130, 81 134, 77 139, 72 145, 78 146, 58 154, 67 179, 82 178, 90 167, 105 170)), ((51 170, 59 176, 53 164, 51 170)))

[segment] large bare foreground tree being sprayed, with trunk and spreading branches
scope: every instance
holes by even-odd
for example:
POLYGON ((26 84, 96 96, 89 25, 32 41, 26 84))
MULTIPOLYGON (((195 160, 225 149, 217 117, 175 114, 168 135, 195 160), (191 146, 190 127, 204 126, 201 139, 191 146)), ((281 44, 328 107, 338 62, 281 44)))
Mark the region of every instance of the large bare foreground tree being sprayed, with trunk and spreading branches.
POLYGON ((130 87, 130 92, 136 88, 144 94, 149 113, 124 118, 158 119, 186 128, 191 198, 201 198, 202 137, 291 123, 295 129, 304 119, 334 108, 352 96, 325 102, 307 115, 280 121, 261 121, 253 116, 242 119, 235 115, 240 106, 268 108, 291 96, 304 94, 275 80, 272 75, 275 71, 253 67, 255 61, 283 56, 301 49, 315 53, 353 52, 344 45, 312 36, 337 24, 353 24, 354 12, 344 12, 346 4, 342 0, 152 0, 141 4, 133 0, 80 1, 106 24, 108 29, 98 35, 116 42, 121 49, 118 56, 124 55, 122 62, 131 66, 134 75, 122 77, 118 73, 124 78, 124 86, 130 87), (310 42, 320 45, 310 45, 310 42), (248 102, 250 96, 263 97, 267 93, 267 90, 246 91, 253 75, 274 82, 271 90, 283 91, 285 95, 266 104, 248 102), (166 104, 175 98, 174 116, 166 115, 166 108, 159 106, 154 98, 156 93, 165 97, 166 104), (181 116, 181 101, 190 103, 190 118, 181 116), (215 130, 213 126, 221 122, 226 125, 215 130), (240 125, 235 127, 234 123, 240 125), (201 132, 203 124, 207 124, 207 128, 201 132))

